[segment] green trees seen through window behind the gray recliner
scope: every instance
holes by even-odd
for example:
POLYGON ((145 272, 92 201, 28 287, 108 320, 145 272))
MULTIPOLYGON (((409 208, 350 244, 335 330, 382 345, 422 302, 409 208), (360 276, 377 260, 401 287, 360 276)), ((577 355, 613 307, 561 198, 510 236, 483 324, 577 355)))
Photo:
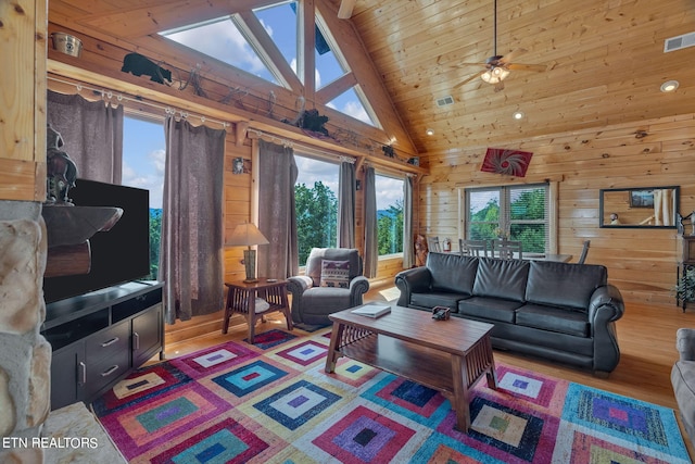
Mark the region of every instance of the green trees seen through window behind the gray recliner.
POLYGON ((336 247, 338 243, 338 198, 321 181, 313 188, 294 186, 296 236, 300 265, 306 263, 315 247, 336 247))

